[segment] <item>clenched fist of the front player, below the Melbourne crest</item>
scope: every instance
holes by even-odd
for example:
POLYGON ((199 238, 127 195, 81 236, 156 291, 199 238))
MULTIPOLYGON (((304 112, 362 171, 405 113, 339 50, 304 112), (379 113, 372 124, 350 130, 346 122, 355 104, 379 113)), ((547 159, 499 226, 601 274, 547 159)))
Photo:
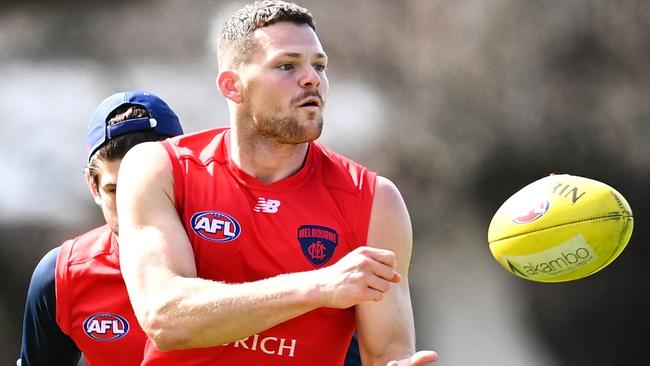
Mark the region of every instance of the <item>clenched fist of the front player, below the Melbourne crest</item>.
POLYGON ((364 301, 380 301, 398 283, 395 253, 359 247, 330 267, 315 272, 326 294, 326 307, 344 309, 364 301))

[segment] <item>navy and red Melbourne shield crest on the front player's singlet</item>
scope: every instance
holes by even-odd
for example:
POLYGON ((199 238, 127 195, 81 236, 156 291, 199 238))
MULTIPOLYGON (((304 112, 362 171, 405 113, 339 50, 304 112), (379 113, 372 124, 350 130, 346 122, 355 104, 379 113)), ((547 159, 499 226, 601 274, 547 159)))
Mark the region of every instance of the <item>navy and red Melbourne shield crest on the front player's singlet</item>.
POLYGON ((305 258, 315 266, 322 266, 332 259, 339 235, 325 226, 302 225, 298 228, 298 241, 305 258))

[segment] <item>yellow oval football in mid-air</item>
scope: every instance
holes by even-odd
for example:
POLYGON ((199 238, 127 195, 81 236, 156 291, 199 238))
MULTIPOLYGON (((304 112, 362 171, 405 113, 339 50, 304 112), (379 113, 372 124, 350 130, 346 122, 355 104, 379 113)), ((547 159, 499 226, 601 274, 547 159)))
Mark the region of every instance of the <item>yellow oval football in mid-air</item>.
POLYGON ((618 257, 633 223, 630 205, 614 188, 589 178, 550 175, 501 205, 488 242, 499 264, 521 278, 572 281, 618 257))

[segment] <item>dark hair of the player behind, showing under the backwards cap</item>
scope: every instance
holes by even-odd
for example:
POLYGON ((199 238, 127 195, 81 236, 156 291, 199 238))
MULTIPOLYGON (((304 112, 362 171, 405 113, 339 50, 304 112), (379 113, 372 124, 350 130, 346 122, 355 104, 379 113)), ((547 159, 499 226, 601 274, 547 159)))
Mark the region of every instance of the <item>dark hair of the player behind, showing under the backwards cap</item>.
MULTIPOLYGON (((147 110, 138 105, 124 105, 109 116, 108 125, 112 126, 135 118, 149 117, 147 110)), ((128 123, 128 122, 127 122, 128 123)), ((153 129, 127 133, 106 141, 90 158, 88 170, 95 184, 99 184, 99 161, 115 161, 124 158, 131 148, 139 143, 162 141, 168 136, 156 133, 153 129)))

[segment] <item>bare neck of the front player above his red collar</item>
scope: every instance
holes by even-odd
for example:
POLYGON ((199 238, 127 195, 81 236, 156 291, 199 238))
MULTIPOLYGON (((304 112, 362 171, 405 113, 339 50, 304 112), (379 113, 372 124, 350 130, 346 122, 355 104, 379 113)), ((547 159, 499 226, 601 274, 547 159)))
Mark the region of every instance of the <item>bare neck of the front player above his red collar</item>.
POLYGON ((230 160, 264 184, 292 176, 302 168, 309 143, 281 144, 261 136, 247 136, 232 128, 228 141, 230 160))

